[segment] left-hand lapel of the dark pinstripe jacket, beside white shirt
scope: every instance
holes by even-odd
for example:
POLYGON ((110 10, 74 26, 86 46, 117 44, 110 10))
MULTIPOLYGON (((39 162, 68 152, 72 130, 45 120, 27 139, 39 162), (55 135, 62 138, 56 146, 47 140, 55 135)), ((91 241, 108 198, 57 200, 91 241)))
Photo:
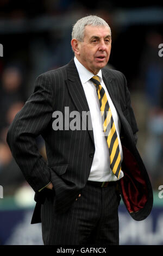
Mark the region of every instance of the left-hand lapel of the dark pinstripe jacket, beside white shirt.
MULTIPOLYGON (((78 109, 80 116, 82 117, 82 114, 84 112, 90 112, 90 109, 89 109, 89 105, 86 100, 84 89, 80 81, 79 74, 73 59, 67 65, 67 75, 68 75, 68 79, 66 81, 66 84, 67 84, 68 92, 70 93, 72 101, 76 106, 76 108, 78 109)), ((85 118, 83 118, 82 121, 85 123, 85 118)), ((89 118, 89 122, 90 122, 90 126, 92 127, 91 118, 89 118)), ((85 123, 85 125, 90 134, 92 142, 94 143, 93 130, 89 129, 87 123, 85 123)))

